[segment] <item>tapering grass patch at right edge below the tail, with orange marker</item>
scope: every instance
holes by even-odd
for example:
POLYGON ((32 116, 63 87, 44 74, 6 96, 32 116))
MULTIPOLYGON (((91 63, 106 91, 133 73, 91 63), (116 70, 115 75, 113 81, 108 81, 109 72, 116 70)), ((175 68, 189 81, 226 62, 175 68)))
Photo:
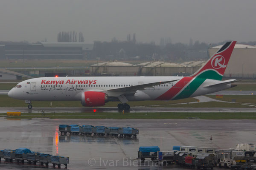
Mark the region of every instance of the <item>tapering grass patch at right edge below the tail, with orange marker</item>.
MULTIPOLYGON (((212 99, 216 99, 214 95, 207 95, 212 99)), ((249 95, 223 95, 222 99, 218 99, 221 101, 232 102, 232 99, 236 99, 236 102, 240 103, 255 103, 256 104, 256 96, 249 96, 249 95)))

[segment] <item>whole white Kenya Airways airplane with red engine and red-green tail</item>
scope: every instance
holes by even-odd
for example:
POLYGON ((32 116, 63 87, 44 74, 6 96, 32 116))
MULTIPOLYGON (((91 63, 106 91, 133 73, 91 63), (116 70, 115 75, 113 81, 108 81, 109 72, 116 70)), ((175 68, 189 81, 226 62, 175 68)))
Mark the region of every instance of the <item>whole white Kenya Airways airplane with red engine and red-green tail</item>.
POLYGON ((236 41, 226 42, 189 77, 40 77, 18 83, 8 96, 29 101, 80 100, 83 106, 103 106, 120 101, 175 100, 232 88, 236 79, 221 81, 236 41))

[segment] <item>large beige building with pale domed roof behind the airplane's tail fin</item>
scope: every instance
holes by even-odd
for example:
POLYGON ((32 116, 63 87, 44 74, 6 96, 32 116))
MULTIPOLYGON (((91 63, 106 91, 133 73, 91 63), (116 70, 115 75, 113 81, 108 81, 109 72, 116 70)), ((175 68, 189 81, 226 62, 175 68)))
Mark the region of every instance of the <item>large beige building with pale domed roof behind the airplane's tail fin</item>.
MULTIPOLYGON (((209 49, 212 56, 222 45, 209 49)), ((224 77, 256 78, 256 46, 236 44, 224 77)))

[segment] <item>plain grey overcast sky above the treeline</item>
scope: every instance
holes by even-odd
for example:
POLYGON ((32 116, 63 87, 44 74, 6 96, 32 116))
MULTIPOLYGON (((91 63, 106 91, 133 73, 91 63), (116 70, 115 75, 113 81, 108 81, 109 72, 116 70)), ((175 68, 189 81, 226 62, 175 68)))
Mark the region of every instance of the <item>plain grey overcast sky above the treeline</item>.
POLYGON ((56 42, 81 31, 86 43, 256 41, 256 0, 0 0, 0 41, 56 42))

